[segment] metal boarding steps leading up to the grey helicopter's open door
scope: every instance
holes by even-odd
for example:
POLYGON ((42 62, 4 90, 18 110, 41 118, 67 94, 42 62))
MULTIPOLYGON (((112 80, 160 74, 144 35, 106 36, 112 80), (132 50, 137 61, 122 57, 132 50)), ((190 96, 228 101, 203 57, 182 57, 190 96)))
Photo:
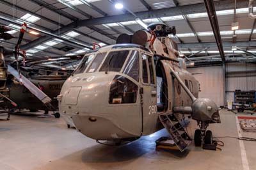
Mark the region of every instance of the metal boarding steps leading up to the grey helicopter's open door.
MULTIPOLYGON (((177 116, 173 113, 164 113, 159 114, 159 119, 163 126, 170 134, 170 139, 172 139, 173 143, 179 148, 180 151, 186 150, 189 144, 192 142, 191 137, 189 137, 188 133, 186 132, 186 123, 183 119, 179 120, 177 116)), ((165 141, 170 141, 166 140, 165 141)), ((158 144, 161 145, 168 145, 165 144, 164 141, 159 142, 158 144)))

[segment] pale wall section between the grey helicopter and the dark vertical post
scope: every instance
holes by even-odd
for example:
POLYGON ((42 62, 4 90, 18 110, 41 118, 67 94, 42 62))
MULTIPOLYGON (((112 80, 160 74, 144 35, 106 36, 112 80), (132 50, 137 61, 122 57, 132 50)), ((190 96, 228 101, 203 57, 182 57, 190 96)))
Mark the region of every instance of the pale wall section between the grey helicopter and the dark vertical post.
POLYGON ((195 78, 200 82, 199 97, 210 98, 218 106, 223 105, 223 72, 222 66, 208 66, 188 68, 195 73, 195 78))

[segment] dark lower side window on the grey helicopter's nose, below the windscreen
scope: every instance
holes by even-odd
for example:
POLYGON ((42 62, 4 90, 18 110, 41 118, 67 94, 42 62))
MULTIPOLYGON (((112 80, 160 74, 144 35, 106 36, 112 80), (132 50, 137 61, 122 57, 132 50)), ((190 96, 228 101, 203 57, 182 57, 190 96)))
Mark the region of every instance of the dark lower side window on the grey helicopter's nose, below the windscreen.
POLYGON ((109 104, 133 104, 136 103, 138 86, 129 79, 116 75, 111 83, 109 92, 109 104))

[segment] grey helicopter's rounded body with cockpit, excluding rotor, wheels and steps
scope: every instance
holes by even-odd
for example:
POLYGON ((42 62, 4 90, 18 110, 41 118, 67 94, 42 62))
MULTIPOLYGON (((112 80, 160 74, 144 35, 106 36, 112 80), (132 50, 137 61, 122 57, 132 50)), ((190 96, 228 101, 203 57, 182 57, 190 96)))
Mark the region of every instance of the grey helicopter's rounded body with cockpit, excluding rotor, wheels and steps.
POLYGON ((117 44, 86 54, 63 84, 60 113, 97 140, 136 138, 163 128, 158 114, 191 98, 172 78, 170 66, 198 97, 198 81, 177 59, 135 44, 117 44))

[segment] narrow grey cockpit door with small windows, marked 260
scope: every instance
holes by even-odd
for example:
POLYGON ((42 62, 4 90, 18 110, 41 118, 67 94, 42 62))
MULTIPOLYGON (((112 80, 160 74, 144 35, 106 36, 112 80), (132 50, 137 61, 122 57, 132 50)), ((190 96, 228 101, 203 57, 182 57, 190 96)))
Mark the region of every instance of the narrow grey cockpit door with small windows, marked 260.
POLYGON ((157 120, 157 86, 154 59, 141 54, 141 110, 143 111, 143 134, 150 134, 156 127, 157 120))

